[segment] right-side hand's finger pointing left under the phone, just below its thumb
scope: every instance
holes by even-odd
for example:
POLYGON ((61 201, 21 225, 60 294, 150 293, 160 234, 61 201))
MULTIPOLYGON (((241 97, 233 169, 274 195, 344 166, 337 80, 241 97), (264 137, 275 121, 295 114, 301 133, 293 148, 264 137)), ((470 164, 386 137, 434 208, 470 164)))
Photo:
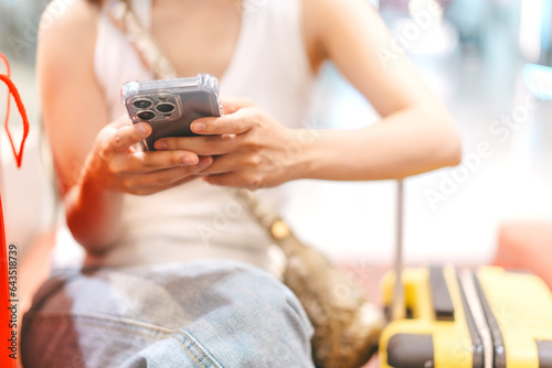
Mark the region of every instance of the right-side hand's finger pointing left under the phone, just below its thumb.
POLYGON ((199 155, 225 154, 237 149, 242 143, 241 136, 210 137, 167 137, 156 141, 156 150, 184 150, 199 155))

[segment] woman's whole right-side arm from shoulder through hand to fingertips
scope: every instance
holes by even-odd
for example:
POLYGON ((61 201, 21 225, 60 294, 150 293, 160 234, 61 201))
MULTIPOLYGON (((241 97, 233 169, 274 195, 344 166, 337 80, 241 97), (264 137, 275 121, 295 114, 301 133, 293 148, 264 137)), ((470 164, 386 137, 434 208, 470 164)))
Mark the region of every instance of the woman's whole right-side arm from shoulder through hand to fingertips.
POLYGON ((367 0, 304 0, 305 47, 316 69, 332 59, 382 120, 357 130, 291 130, 250 101, 226 101, 226 116, 192 123, 198 138, 168 138, 158 149, 216 155, 205 181, 266 187, 295 178, 384 180, 460 161, 454 119, 407 58, 378 55, 391 35, 367 0))

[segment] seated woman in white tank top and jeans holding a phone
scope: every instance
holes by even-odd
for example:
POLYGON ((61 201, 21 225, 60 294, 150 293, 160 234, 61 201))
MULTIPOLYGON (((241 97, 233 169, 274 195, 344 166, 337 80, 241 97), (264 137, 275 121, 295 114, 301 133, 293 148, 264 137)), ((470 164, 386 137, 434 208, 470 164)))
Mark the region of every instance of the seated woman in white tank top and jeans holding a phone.
POLYGON ((179 76, 220 79, 225 116, 194 121, 200 137, 137 150, 151 127, 129 123, 118 90, 151 71, 110 22, 109 7, 57 2, 64 11, 41 31, 38 73, 67 226, 87 268, 42 288, 25 317, 25 364, 312 367, 305 312, 258 269, 269 239, 246 210, 232 210, 230 188, 455 165, 455 123, 404 56, 380 57, 393 40, 367 1, 131 4, 179 76), (302 121, 326 59, 381 123, 306 139, 302 121))

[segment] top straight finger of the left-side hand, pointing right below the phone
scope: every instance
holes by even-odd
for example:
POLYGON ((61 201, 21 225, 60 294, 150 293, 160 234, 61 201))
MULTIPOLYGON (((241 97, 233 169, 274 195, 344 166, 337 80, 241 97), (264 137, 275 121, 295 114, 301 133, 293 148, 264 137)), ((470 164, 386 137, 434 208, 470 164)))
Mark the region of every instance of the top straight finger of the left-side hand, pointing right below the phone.
POLYGON ((115 173, 153 172, 195 165, 199 156, 188 151, 137 151, 114 155, 110 165, 115 173))

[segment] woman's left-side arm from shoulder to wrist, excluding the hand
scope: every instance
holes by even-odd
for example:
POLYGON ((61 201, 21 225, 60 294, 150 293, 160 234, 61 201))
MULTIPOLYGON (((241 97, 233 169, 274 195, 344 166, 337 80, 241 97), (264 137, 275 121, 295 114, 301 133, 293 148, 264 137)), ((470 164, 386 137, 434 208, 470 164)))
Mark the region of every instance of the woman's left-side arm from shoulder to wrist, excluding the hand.
POLYGON ((41 28, 36 71, 67 224, 79 242, 100 248, 117 232, 121 196, 85 180, 88 152, 109 122, 93 72, 96 22, 86 2, 66 7, 52 26, 41 28))

